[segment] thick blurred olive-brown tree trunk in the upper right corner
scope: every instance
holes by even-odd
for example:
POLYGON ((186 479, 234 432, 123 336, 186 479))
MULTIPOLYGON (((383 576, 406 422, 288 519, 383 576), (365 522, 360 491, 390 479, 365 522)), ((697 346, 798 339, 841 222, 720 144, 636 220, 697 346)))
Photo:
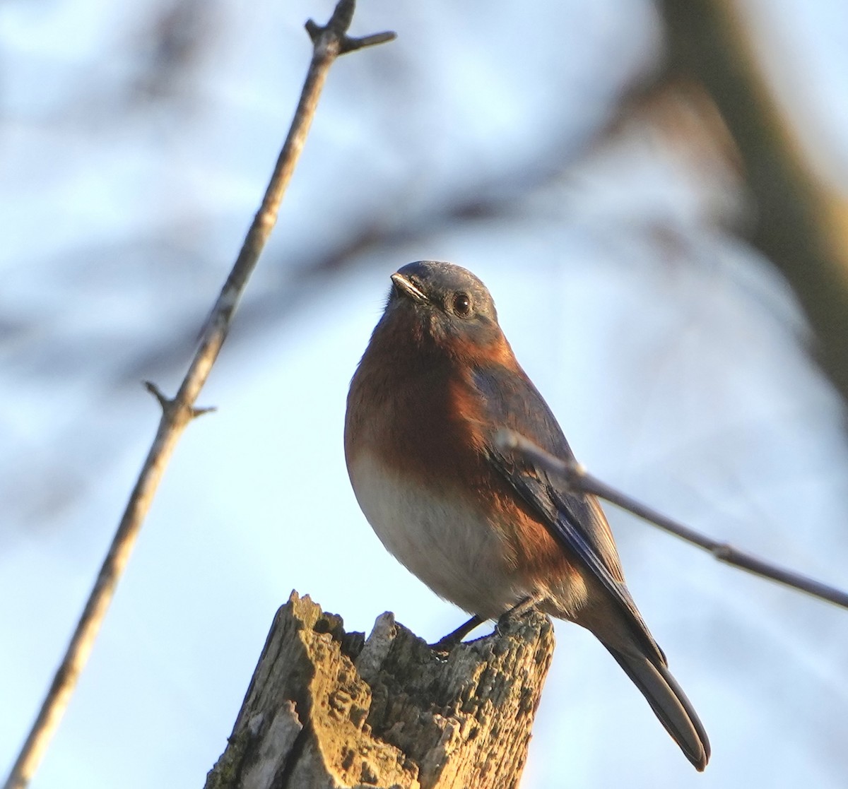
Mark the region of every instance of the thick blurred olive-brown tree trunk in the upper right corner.
POLYGON ((848 211, 817 179, 793 124, 757 63, 732 0, 661 0, 661 82, 696 81, 732 136, 754 203, 750 242, 775 264, 806 312, 818 363, 848 402, 848 211))

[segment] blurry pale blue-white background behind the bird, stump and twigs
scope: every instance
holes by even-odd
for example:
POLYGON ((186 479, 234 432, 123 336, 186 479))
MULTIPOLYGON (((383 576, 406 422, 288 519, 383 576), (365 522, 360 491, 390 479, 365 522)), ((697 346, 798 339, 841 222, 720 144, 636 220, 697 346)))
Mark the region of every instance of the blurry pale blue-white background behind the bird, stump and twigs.
MULTIPOLYGON (((153 437, 140 381, 176 388, 287 130, 304 20, 331 10, 0 8, 0 770, 153 437)), ((844 193, 848 6, 742 11, 844 193)), ((198 403, 219 410, 181 441, 34 789, 202 786, 293 588, 349 630, 390 609, 433 641, 464 619, 384 551, 343 463, 349 378, 411 260, 486 282, 594 474, 845 586, 844 403, 744 240, 756 208, 720 153, 622 111, 660 69, 657 9, 362 2, 354 35, 385 29, 398 41, 332 69, 198 403)), ((845 612, 607 510, 712 762, 696 775, 600 644, 558 623, 522 786, 844 786, 845 612)))

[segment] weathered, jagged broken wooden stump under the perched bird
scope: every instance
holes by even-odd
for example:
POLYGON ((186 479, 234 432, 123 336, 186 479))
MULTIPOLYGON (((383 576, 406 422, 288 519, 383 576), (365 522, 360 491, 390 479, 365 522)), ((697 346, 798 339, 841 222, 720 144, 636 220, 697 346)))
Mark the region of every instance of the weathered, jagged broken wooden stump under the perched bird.
POLYGON ((434 652, 392 614, 345 633, 292 592, 206 789, 509 789, 554 650, 532 614, 434 652))

